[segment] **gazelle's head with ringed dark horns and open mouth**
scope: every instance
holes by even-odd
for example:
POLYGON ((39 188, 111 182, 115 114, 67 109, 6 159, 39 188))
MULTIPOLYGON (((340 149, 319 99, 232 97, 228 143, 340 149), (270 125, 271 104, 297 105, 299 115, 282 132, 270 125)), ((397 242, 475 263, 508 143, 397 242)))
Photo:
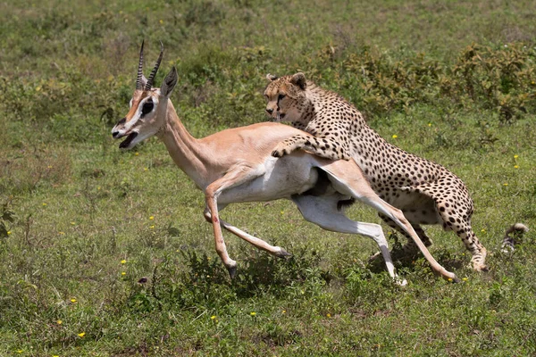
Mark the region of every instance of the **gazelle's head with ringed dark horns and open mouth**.
POLYGON ((163 57, 163 45, 160 44, 160 55, 148 79, 143 75, 143 42, 139 51, 138 78, 136 90, 130 99, 130 111, 119 120, 112 129, 113 138, 127 137, 121 142, 121 149, 131 149, 140 141, 152 137, 165 125, 168 99, 173 87, 177 84, 175 67, 163 79, 160 88, 153 87, 156 72, 163 57))

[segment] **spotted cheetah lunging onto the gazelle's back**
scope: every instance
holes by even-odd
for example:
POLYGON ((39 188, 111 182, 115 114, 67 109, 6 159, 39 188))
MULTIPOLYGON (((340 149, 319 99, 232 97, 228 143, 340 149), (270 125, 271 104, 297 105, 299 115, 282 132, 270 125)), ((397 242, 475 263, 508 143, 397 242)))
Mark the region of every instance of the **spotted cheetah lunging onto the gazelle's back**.
MULTIPOLYGON (((289 121, 312 135, 295 135, 277 145, 275 157, 299 149, 331 160, 354 159, 373 190, 404 212, 427 246, 431 239, 421 225, 441 224, 453 230, 472 253, 474 270, 487 270, 486 248, 471 227, 473 200, 461 179, 437 164, 389 144, 371 129, 361 112, 337 93, 306 80, 304 73, 278 78, 268 74, 264 90, 266 114, 274 121, 289 121)), ((385 215, 381 220, 408 238, 394 256, 415 255, 417 247, 385 215)))

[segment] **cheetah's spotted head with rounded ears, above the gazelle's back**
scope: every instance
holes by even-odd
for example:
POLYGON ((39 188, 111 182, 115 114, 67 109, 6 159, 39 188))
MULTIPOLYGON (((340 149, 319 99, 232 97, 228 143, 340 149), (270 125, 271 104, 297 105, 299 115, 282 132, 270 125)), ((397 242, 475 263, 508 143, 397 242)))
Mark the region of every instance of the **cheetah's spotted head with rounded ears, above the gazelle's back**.
POLYGON ((298 72, 278 78, 267 74, 270 81, 264 89, 266 115, 273 121, 298 121, 306 110, 306 76, 298 72))

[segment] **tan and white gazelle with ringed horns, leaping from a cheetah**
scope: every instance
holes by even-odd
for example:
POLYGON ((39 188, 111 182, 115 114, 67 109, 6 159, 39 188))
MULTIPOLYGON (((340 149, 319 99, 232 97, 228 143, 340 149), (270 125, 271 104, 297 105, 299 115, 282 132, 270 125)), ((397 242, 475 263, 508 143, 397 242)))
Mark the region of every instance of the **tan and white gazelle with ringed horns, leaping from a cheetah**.
POLYGON ((373 238, 380 247, 389 275, 397 278, 381 226, 349 220, 339 209, 351 199, 368 204, 397 222, 415 239, 432 270, 443 278, 456 279, 455 274, 433 259, 402 212, 373 192, 356 162, 333 162, 303 151, 279 159, 272 157, 275 145, 301 133, 298 129, 265 122, 223 130, 201 139, 192 137, 170 100, 177 84, 175 68, 165 77, 162 87, 153 87, 162 57, 161 44, 155 68, 146 79, 142 72, 142 43, 130 111, 115 125, 112 135, 114 138, 126 137, 119 145, 122 149, 130 149, 154 135, 163 141, 177 166, 205 192, 205 220, 213 225, 216 252, 231 278, 236 274, 237 262, 227 253, 222 227, 275 256, 285 257, 289 253, 220 220, 219 210, 230 203, 287 198, 297 204, 306 220, 324 229, 373 238))

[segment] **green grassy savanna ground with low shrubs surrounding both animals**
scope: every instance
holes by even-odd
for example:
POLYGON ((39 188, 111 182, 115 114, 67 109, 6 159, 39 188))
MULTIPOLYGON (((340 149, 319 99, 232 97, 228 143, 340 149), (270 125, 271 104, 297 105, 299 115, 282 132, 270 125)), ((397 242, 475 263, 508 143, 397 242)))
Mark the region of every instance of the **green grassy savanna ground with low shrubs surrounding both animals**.
MULTIPOLYGON (((536 3, 533 1, 50 1, 0 4, 0 355, 536 354, 536 3), (445 4, 443 4, 445 3, 445 4), (264 119, 264 76, 305 71, 400 147, 465 180, 490 271, 452 233, 431 253, 464 282, 322 231, 289 202, 222 217, 294 256, 226 235, 150 139, 120 152, 138 46, 158 41, 172 100, 200 137, 264 119), (505 228, 532 228, 513 254, 505 228)), ((147 70, 148 72, 148 70, 147 70)), ((354 219, 380 222, 356 204, 354 219)), ((392 245, 398 237, 389 232, 392 245)), ((401 239, 400 239, 401 241, 401 239)))

